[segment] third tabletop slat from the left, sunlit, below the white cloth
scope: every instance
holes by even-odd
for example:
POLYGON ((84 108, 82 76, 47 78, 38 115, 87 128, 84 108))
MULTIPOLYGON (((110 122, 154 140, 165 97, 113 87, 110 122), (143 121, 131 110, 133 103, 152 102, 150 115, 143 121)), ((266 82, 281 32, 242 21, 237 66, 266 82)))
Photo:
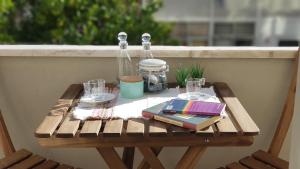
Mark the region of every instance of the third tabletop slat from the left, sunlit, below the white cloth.
POLYGON ((81 137, 97 137, 102 125, 101 120, 87 120, 80 131, 81 137))

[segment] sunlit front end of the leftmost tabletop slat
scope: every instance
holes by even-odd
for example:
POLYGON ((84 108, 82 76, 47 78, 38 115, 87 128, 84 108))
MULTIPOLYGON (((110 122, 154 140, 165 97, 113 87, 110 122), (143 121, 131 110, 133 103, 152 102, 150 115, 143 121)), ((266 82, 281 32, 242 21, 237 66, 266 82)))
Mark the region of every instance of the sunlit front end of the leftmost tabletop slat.
POLYGON ((45 119, 43 120, 43 122, 40 124, 40 126, 35 131, 36 137, 51 137, 52 134, 54 133, 55 129, 57 128, 57 126, 62 121, 62 119, 63 119, 62 115, 46 116, 45 119))

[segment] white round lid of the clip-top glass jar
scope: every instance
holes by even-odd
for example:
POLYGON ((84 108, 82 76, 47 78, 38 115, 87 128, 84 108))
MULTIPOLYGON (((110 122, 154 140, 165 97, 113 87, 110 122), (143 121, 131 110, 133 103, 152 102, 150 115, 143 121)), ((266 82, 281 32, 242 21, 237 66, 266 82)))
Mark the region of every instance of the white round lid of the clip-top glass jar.
POLYGON ((139 62, 140 70, 161 71, 167 68, 167 63, 161 59, 144 59, 139 62))

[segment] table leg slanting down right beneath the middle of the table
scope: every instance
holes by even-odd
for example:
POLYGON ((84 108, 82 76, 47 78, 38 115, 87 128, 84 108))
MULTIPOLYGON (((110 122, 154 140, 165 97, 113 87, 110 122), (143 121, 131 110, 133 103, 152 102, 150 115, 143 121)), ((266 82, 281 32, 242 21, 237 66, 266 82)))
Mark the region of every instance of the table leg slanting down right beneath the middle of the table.
POLYGON ((140 146, 138 148, 140 152, 144 155, 144 158, 147 160, 151 168, 164 169, 164 166, 161 164, 160 160, 156 157, 156 155, 150 147, 140 146))

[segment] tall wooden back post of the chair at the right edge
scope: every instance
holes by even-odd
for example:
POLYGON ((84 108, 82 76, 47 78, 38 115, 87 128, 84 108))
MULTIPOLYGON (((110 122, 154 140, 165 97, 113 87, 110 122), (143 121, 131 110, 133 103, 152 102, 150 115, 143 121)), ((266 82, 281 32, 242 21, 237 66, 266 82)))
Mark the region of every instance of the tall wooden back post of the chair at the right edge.
POLYGON ((286 98, 283 111, 281 113, 280 121, 277 125, 275 135, 273 136, 272 143, 269 147, 268 152, 273 156, 278 157, 280 150, 282 148, 285 137, 288 133, 290 124, 292 122, 294 114, 294 104, 295 104, 295 95, 296 95, 296 86, 297 86, 297 72, 298 72, 298 62, 299 62, 300 47, 296 53, 294 61, 294 69, 292 75, 292 81, 290 83, 288 96, 286 98))

